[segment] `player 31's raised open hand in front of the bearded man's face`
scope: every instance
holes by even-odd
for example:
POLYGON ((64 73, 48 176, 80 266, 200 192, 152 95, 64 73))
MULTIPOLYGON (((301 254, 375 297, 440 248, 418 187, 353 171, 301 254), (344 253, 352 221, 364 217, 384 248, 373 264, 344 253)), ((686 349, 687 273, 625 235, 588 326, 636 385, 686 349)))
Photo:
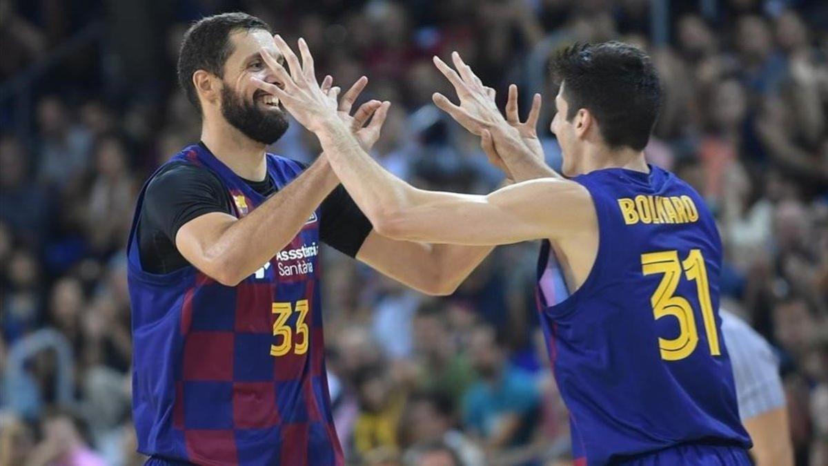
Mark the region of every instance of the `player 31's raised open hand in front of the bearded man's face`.
MULTIPOLYGON (((299 58, 291 47, 278 34, 273 36, 277 49, 285 57, 287 70, 277 61, 276 57, 262 48, 261 54, 267 66, 276 74, 279 85, 272 85, 256 77, 251 78, 253 84, 267 93, 275 95, 285 109, 293 115, 302 126, 316 133, 325 127, 325 124, 339 122, 335 99, 330 99, 329 92, 323 92, 316 82, 313 57, 304 39, 299 39, 299 58)), ((330 84, 329 84, 330 85, 330 84)))

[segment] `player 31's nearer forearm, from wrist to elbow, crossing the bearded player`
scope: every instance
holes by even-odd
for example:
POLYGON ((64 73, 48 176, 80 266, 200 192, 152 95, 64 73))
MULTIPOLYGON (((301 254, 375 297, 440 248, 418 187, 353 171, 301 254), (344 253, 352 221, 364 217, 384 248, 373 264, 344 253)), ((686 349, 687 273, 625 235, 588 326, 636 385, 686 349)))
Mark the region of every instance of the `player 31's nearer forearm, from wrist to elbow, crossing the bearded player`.
POLYGON ((389 216, 404 209, 416 190, 376 163, 339 120, 331 120, 317 136, 339 181, 374 229, 384 234, 389 216))

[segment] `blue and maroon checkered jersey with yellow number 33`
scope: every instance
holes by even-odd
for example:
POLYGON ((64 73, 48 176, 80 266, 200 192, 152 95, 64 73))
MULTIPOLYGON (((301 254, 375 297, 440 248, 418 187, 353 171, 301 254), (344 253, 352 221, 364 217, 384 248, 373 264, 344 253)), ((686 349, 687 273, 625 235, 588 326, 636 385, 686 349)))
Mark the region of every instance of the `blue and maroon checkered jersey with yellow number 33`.
MULTIPOLYGON (((189 146, 174 162, 214 172, 239 218, 265 201, 205 148, 189 146)), ((301 169, 267 154, 279 189, 301 169)), ((147 184, 128 245, 138 451, 198 464, 344 464, 325 377, 319 210, 272 260, 229 287, 192 266, 142 269, 136 228, 147 184)))

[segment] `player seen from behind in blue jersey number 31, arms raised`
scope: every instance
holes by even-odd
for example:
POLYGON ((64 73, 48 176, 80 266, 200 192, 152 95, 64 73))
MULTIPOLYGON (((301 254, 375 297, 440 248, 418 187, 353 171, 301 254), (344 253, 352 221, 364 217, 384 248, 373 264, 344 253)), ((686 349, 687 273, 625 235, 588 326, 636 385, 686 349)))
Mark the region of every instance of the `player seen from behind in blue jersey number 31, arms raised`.
POLYGON ((460 96, 436 104, 517 181, 473 196, 416 189, 384 170, 325 106, 306 42, 301 63, 280 36, 276 44, 291 74, 263 50, 281 86, 256 85, 316 134, 378 231, 459 245, 542 240, 538 319, 575 465, 751 464, 720 337, 719 232, 699 193, 644 157, 662 90, 643 51, 610 41, 551 56, 564 176, 543 163, 540 95, 522 123, 512 88, 504 118, 459 54, 456 70, 435 57, 460 96))

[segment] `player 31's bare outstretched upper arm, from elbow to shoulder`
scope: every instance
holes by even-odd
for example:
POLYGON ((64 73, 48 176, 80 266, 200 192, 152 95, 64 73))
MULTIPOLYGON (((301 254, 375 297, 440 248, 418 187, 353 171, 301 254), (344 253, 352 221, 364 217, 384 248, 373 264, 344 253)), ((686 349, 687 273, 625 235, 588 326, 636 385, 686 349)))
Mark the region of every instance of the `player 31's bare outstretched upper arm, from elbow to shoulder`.
POLYGON ((595 226, 590 193, 576 182, 542 178, 488 196, 412 190, 380 211, 374 229, 397 240, 455 245, 505 245, 561 239, 595 226))

